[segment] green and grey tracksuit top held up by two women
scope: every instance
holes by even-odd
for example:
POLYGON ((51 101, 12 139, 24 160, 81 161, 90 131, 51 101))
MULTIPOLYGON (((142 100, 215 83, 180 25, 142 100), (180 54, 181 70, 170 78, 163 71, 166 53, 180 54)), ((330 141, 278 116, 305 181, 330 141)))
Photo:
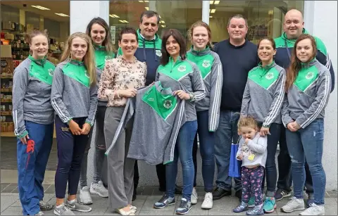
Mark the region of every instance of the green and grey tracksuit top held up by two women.
POLYGON ((137 96, 127 100, 113 144, 133 117, 127 157, 150 165, 173 161, 177 135, 186 122, 184 103, 170 88, 163 89, 161 82, 139 89, 137 96))

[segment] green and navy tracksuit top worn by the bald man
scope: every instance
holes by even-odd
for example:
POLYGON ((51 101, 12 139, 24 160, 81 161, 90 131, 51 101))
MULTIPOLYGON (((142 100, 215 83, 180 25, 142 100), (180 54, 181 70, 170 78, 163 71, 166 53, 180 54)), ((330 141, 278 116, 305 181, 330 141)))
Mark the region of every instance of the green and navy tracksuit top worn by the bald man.
MULTIPOLYGON (((306 29, 303 28, 303 34, 309 34, 306 29)), ((321 39, 315 37, 315 44, 317 45, 317 55, 315 58, 325 65, 327 70, 330 70, 331 74, 331 92, 334 89, 334 70, 331 60, 329 58, 329 54, 327 53, 327 49, 325 44, 321 39)), ((288 39, 287 34, 285 32, 281 37, 277 37, 275 39, 277 53, 275 55, 275 61, 277 65, 280 65, 282 68, 288 68, 291 62, 291 53, 294 48, 294 44, 296 43, 296 39, 288 39), (287 49, 286 49, 287 48, 287 49), (289 52, 288 52, 289 51, 289 52), (290 56, 289 56, 290 55, 290 56)))

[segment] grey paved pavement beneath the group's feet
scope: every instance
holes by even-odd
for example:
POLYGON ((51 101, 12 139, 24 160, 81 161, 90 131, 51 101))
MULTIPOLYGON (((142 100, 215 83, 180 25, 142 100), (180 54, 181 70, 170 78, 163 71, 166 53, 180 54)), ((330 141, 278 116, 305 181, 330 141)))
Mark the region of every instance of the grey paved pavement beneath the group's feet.
MULTIPOLYGON (((55 193, 51 193, 54 184, 45 184, 44 201, 55 203, 55 193)), ((202 210, 201 204, 204 198, 204 189, 202 187, 196 188, 199 194, 198 203, 193 205, 192 209, 187 215, 245 215, 245 212, 234 213, 232 209, 235 208, 239 201, 234 197, 234 193, 230 197, 221 198, 218 201, 213 201, 213 208, 211 210, 202 210)), ((154 203, 161 198, 162 193, 158 191, 157 187, 146 186, 137 189, 137 199, 132 203, 137 207, 135 215, 175 215, 175 208, 179 205, 181 196, 176 196, 176 206, 171 205, 161 210, 153 208, 154 203)), ((93 195, 93 204, 91 212, 74 212, 75 215, 118 215, 108 209, 108 198, 101 198, 93 195)), ((292 213, 284 213, 280 211, 282 205, 289 201, 288 198, 277 201, 277 210, 269 215, 299 215, 301 211, 292 213)), ((325 215, 337 215, 337 191, 326 191, 325 193, 325 215)), ((46 215, 54 215, 53 210, 44 212, 46 215)), ((22 215, 22 208, 18 198, 18 189, 16 184, 1 183, 1 215, 22 215)))

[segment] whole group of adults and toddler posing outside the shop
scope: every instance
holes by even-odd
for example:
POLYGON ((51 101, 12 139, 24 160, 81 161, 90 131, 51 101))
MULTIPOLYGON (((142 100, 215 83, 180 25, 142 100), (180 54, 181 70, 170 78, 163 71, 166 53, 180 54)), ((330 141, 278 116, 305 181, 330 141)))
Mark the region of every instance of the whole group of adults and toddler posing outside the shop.
POLYGON ((154 208, 174 205, 175 193, 182 193, 176 209, 179 215, 187 214, 197 203, 198 136, 205 191, 201 208, 211 209, 213 200, 232 195, 230 153, 231 145, 238 143, 236 156, 242 161, 242 177, 234 178, 235 196, 240 201, 234 212, 273 212, 276 201, 291 196, 293 183, 294 196, 282 211, 305 209, 305 186, 308 208, 301 215, 323 215, 324 110, 334 89, 334 72, 323 42, 303 28, 301 12, 287 12, 282 37, 264 37, 257 45, 245 39, 248 25, 242 15, 229 19, 230 39, 215 46, 210 27, 198 21, 189 29, 189 51, 178 30, 166 30, 160 38, 156 34, 159 23, 158 13, 145 11, 139 30, 125 27, 120 32, 115 51, 108 24, 94 18, 86 33, 70 35, 56 66, 46 60, 48 35, 38 30, 29 34, 32 54, 15 68, 13 77, 23 215, 44 215, 44 210, 52 209, 56 215, 89 212, 91 194, 108 197, 109 208, 120 215, 135 214, 137 207, 132 201, 137 198, 139 172, 137 160, 127 157, 132 121, 122 129, 107 156, 105 152, 128 99, 154 82, 184 101, 186 118, 177 134, 173 161, 156 165, 159 190, 164 194, 154 208), (42 186, 54 125, 58 149, 55 206, 43 201, 42 186), (88 186, 87 155, 92 139, 94 177, 88 186), (108 189, 102 178, 105 157, 108 189), (175 184, 178 158, 182 189, 175 184))

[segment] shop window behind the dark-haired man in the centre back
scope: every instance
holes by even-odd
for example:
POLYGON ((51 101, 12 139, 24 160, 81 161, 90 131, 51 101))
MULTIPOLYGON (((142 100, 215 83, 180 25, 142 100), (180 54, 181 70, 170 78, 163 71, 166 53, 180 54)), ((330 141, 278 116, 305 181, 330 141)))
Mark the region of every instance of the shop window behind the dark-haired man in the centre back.
POLYGON ((109 23, 115 32, 112 37, 116 48, 120 30, 126 26, 138 29, 139 16, 146 10, 156 11, 161 16, 157 32, 160 37, 163 30, 175 28, 188 39, 189 27, 202 18, 202 1, 110 1, 109 23))

